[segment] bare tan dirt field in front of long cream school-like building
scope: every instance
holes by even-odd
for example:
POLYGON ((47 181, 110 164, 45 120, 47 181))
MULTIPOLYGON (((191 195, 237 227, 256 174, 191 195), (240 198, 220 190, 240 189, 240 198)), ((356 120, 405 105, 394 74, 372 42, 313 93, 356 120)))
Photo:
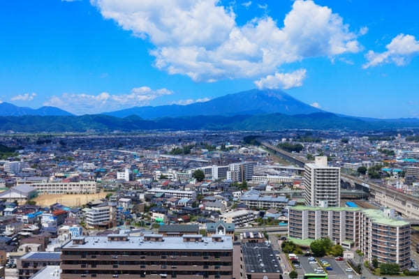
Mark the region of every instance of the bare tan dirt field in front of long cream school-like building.
POLYGON ((35 199, 36 205, 39 206, 50 206, 51 204, 55 204, 59 202, 65 206, 82 206, 83 204, 87 204, 95 199, 102 199, 106 197, 105 192, 97 193, 97 194, 80 194, 80 195, 39 195, 35 199))

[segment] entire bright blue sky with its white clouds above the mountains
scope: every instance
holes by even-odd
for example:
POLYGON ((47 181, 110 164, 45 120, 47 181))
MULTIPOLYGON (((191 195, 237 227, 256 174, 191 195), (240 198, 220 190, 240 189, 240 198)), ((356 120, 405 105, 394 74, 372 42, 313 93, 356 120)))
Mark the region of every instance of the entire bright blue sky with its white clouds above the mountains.
POLYGON ((330 112, 419 117, 419 2, 379 3, 5 1, 0 100, 84 114, 259 86, 330 112))

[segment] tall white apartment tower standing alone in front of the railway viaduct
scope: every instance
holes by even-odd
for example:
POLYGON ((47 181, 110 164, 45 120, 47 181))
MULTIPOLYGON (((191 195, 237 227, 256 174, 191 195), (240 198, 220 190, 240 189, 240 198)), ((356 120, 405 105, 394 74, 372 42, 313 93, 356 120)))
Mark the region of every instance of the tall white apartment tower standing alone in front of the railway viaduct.
POLYGON ((340 205, 340 168, 328 167, 325 156, 304 165, 304 201, 308 206, 340 205))

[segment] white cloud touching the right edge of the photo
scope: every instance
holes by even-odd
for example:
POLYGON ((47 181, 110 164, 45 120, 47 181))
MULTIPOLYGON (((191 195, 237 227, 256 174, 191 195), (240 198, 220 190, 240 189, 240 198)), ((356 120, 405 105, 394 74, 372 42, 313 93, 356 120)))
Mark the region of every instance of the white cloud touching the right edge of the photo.
POLYGON ((411 58, 419 54, 419 41, 415 36, 400 33, 385 46, 385 52, 374 52, 370 50, 365 54, 367 63, 362 68, 375 67, 385 63, 395 63, 397 66, 404 66, 411 61, 411 58))

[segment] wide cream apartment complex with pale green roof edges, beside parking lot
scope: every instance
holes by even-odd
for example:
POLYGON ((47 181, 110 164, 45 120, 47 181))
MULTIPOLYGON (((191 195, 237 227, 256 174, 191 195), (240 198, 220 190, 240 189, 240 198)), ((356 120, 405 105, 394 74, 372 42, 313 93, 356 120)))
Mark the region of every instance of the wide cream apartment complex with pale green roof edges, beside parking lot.
POLYGON ((358 248, 369 262, 410 267, 410 224, 386 214, 387 210, 350 207, 294 206, 288 209, 288 236, 295 239, 328 238, 345 248, 358 248))

